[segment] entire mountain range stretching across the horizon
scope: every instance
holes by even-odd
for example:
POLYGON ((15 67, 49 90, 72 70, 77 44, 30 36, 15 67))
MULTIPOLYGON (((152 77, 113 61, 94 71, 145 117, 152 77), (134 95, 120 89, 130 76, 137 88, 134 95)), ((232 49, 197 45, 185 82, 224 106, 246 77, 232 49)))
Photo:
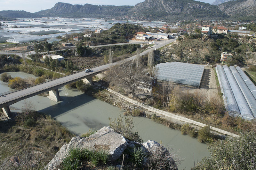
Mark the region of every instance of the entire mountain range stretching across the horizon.
POLYGON ((124 18, 173 21, 180 19, 256 18, 256 0, 216 0, 212 5, 194 0, 145 0, 135 6, 72 5, 57 3, 48 10, 35 13, 0 11, 3 17, 37 18, 124 18))

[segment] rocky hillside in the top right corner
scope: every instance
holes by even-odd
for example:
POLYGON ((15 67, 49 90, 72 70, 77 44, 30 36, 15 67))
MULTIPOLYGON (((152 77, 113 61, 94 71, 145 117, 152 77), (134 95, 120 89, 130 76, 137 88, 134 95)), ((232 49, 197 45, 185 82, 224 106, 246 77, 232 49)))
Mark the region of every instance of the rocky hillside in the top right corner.
POLYGON ((256 0, 236 0, 218 5, 232 20, 256 20, 256 0))

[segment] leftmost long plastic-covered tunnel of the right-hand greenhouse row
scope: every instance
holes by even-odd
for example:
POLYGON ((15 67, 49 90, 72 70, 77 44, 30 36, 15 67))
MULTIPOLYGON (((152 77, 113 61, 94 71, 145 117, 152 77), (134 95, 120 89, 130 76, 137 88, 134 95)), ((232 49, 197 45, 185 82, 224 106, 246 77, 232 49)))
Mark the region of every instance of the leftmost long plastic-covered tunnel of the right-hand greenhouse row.
POLYGON ((217 65, 216 72, 220 82, 220 89, 221 89, 221 92, 223 93, 223 100, 224 100, 227 112, 229 113, 229 115, 239 116, 240 111, 237 106, 234 94, 228 83, 228 78, 224 72, 223 67, 221 65, 217 65))

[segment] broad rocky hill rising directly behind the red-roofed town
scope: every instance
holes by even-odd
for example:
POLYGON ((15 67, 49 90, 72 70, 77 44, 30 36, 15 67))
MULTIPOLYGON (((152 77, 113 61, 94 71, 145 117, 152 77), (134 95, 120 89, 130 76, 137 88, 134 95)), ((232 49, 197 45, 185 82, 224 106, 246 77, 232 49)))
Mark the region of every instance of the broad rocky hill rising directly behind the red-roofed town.
POLYGON ((227 15, 217 6, 194 0, 146 0, 129 10, 132 17, 151 19, 217 19, 227 15))

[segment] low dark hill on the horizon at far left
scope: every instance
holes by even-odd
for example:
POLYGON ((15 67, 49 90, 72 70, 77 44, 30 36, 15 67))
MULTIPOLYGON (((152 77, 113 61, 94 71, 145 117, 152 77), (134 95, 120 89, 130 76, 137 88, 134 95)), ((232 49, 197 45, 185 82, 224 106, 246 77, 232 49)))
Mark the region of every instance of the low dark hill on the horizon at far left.
POLYGON ((35 13, 27 12, 27 11, 0 11, 0 15, 3 17, 9 18, 36 18, 42 17, 41 15, 37 15, 35 13))

